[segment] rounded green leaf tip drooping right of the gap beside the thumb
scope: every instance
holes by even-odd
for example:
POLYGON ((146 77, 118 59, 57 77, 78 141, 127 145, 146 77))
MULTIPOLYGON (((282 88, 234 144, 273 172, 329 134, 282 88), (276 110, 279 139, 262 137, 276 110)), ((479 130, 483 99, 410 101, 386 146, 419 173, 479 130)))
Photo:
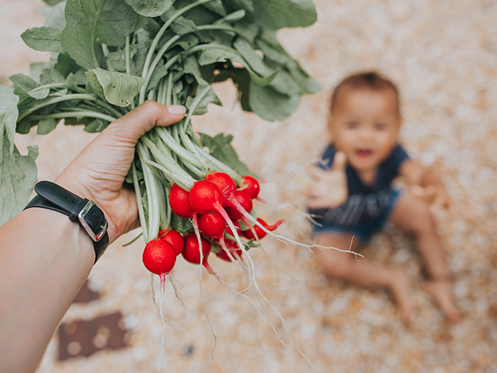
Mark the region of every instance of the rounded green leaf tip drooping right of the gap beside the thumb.
POLYGON ((288 96, 273 87, 261 87, 251 82, 249 88, 249 105, 251 110, 267 121, 282 121, 290 117, 300 103, 300 96, 288 96))

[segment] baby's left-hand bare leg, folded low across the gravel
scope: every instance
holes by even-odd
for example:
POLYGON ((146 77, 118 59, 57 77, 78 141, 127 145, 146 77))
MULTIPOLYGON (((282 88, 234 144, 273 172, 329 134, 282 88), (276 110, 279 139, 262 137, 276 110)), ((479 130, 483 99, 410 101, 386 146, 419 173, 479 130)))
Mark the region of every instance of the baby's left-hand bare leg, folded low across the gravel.
MULTIPOLYGON (((321 233, 317 236, 317 243, 326 247, 349 249, 351 234, 321 233)), ((354 244, 352 251, 356 251, 354 244)), ((316 252, 317 259, 325 274, 336 279, 342 279, 362 286, 374 288, 388 288, 400 311, 404 323, 408 323, 413 310, 410 296, 408 276, 399 269, 393 269, 382 264, 371 263, 365 258, 354 254, 337 252, 333 249, 320 249, 316 252)))

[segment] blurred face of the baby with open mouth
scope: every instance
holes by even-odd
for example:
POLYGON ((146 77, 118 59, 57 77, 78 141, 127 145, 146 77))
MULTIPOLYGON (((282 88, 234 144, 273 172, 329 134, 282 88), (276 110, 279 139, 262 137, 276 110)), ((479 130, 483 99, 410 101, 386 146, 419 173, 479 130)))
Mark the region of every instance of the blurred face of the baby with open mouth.
POLYGON ((337 150, 359 172, 372 171, 397 142, 400 117, 393 90, 350 88, 339 93, 329 131, 337 150))

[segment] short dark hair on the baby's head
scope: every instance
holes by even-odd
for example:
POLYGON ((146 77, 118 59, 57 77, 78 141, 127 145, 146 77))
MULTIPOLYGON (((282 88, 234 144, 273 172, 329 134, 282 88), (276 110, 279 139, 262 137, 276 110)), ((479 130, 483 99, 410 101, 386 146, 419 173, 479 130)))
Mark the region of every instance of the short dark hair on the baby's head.
POLYGON ((356 72, 353 75, 349 75, 344 78, 342 82, 335 87, 332 93, 332 99, 329 104, 329 111, 333 113, 335 105, 337 103, 337 97, 339 93, 344 90, 344 88, 351 88, 352 90, 367 88, 369 90, 381 91, 381 90, 393 90, 395 94, 395 99, 397 101, 397 114, 400 117, 400 92, 393 82, 378 72, 366 71, 366 72, 356 72))

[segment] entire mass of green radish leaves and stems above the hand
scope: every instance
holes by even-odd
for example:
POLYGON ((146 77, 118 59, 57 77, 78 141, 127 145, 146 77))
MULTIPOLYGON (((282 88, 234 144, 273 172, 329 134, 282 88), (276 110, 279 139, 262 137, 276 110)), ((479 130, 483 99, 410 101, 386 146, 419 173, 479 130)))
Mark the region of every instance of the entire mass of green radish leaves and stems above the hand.
MULTIPOLYGON (((230 78, 244 110, 282 120, 300 95, 320 89, 276 38, 279 28, 315 22, 312 0, 45 2, 43 26, 21 37, 51 52, 50 61, 33 63, 30 76, 13 75, 12 87, 0 86, 0 225, 26 205, 36 181, 37 150, 21 156, 15 131, 38 126, 38 134, 48 134, 61 119, 102 131, 146 99, 202 114, 220 104, 212 83, 230 78)), ((242 167, 231 138, 202 141, 242 167)))

